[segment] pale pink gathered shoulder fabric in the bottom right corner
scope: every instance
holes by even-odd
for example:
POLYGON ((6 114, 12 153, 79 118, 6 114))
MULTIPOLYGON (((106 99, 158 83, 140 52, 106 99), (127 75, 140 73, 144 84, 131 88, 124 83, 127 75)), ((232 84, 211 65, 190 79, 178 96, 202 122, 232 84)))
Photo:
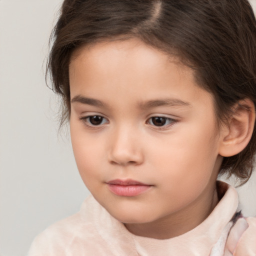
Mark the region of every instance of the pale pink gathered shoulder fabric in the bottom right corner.
POLYGON ((227 238, 225 255, 256 255, 256 217, 239 218, 236 221, 227 238))

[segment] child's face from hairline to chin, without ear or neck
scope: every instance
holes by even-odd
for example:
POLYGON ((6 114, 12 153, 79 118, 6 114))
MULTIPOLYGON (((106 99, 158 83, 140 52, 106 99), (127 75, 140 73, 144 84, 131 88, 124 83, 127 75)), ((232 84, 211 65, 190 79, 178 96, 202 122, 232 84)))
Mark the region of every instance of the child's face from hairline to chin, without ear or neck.
POLYGON ((112 216, 150 223, 208 207, 220 136, 191 69, 129 39, 79 49, 69 77, 77 167, 112 216))

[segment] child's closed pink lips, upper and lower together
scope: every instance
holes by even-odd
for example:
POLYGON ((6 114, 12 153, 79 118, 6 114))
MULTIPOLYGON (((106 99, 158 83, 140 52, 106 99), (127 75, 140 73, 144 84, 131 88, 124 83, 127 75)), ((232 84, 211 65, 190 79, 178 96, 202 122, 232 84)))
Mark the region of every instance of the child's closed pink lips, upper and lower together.
POLYGON ((114 179, 107 182, 111 192, 120 196, 136 196, 148 190, 151 185, 144 184, 132 179, 114 179))

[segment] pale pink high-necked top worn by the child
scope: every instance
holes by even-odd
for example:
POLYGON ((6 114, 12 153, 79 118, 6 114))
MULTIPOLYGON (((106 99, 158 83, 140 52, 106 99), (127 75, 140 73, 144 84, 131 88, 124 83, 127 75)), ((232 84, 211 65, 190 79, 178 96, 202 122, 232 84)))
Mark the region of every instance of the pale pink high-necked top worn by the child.
POLYGON ((39 234, 28 256, 255 256, 256 218, 230 221, 237 192, 224 182, 219 190, 222 198, 201 224, 162 240, 133 235, 90 195, 78 213, 39 234))

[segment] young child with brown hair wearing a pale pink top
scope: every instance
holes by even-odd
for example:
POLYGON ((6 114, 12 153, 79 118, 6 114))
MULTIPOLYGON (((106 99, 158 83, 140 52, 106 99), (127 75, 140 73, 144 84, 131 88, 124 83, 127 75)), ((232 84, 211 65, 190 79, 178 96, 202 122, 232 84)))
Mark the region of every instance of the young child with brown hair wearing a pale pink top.
POLYGON ((64 0, 48 61, 91 192, 29 256, 256 255, 237 193, 256 148, 247 0, 64 0))

